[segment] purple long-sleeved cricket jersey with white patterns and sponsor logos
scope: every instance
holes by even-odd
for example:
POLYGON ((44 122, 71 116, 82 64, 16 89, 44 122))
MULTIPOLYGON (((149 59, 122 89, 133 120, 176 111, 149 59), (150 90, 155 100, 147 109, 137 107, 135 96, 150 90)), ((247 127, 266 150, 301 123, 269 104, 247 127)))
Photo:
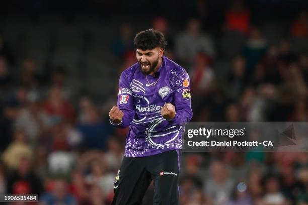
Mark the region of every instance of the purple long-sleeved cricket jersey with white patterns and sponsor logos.
POLYGON ((155 76, 144 75, 136 63, 120 76, 118 107, 124 116, 115 126, 130 128, 125 157, 182 149, 184 126, 192 118, 189 76, 167 57, 163 57, 155 76), (161 115, 161 108, 168 102, 176 108, 172 120, 161 115))

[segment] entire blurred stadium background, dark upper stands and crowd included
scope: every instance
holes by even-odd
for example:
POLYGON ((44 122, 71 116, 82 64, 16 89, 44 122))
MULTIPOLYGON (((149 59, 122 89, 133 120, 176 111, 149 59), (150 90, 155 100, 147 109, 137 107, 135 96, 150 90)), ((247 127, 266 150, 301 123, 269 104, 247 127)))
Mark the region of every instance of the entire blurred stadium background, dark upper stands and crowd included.
MULTIPOLYGON (((0 6, 0 193, 110 204, 114 129, 136 32, 155 28, 192 84, 192 121, 308 121, 308 3, 6 1, 0 6)), ((183 153, 180 204, 308 204, 308 153, 183 153)), ((152 204, 152 185, 144 204, 152 204)))

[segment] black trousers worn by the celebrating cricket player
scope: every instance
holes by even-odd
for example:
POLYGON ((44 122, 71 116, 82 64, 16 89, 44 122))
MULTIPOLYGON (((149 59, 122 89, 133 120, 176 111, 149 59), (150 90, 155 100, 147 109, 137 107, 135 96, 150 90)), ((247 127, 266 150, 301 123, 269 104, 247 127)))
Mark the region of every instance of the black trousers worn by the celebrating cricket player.
POLYGON ((171 150, 147 157, 124 157, 114 184, 112 205, 137 205, 153 180, 154 204, 179 203, 181 150, 171 150))

